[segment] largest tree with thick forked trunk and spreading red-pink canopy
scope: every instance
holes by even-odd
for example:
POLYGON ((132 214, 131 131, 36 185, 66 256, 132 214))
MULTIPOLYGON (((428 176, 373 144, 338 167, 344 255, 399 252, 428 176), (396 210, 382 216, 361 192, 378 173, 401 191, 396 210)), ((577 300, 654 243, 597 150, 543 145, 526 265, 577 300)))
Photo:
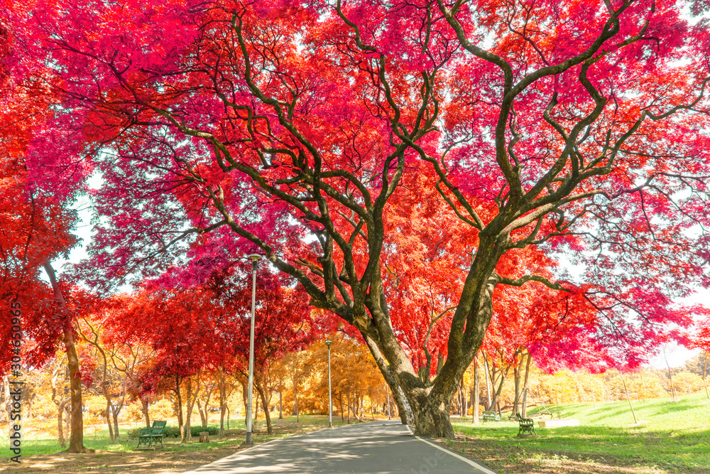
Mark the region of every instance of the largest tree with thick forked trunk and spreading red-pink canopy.
POLYGON ((102 149, 84 275, 160 269, 185 242, 196 268, 261 249, 359 330, 419 434, 453 436, 497 286, 578 294, 506 273, 515 249, 576 255, 606 334, 639 344, 710 281, 709 36, 671 1, 45 1, 31 21, 62 123, 102 149), (383 285, 388 200, 417 161, 476 235, 433 379, 383 285))

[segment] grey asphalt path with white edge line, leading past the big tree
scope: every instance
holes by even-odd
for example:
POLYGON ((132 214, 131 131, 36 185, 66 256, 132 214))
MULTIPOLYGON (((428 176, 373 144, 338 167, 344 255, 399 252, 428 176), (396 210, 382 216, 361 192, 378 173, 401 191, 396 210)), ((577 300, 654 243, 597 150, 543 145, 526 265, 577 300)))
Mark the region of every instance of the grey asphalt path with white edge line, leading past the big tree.
POLYGON ((184 474, 197 473, 495 474, 480 463, 414 436, 400 421, 373 421, 278 439, 184 474))

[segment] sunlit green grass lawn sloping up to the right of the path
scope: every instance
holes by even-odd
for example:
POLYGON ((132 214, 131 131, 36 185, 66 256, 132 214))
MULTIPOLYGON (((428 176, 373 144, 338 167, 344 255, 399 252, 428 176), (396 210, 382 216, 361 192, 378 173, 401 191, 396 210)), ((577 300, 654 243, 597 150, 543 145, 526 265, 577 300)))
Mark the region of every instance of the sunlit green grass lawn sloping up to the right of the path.
POLYGON ((513 421, 479 426, 454 421, 454 429, 488 448, 497 446, 513 462, 564 457, 671 473, 710 473, 710 402, 704 394, 677 402, 654 399, 632 403, 637 419, 647 423, 630 426, 633 416, 628 402, 608 402, 596 407, 548 406, 555 418, 579 419, 581 426, 541 429, 536 423, 537 438, 518 438, 518 423, 513 421))

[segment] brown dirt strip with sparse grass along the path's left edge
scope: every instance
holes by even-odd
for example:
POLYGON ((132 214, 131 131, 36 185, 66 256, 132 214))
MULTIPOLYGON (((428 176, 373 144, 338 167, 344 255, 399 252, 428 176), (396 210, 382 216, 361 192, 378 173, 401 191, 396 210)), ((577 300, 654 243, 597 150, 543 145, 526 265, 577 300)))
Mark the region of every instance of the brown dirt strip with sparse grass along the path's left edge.
MULTIPOLYGON (((260 444, 274 438, 310 433, 323 428, 322 424, 283 423, 274 426, 274 433, 271 437, 266 436, 266 433, 254 433, 253 441, 255 444, 260 444)), ((21 463, 2 460, 0 472, 177 474, 249 448, 250 446, 241 445, 245 436, 244 430, 229 431, 224 438, 210 436, 209 447, 199 449, 199 451, 185 451, 185 446, 166 444, 164 448, 156 448, 155 451, 97 451, 92 454, 56 453, 22 456, 21 463)), ((133 446, 136 443, 133 443, 133 446)), ((199 443, 195 439, 190 441, 188 446, 197 444, 199 443)))

